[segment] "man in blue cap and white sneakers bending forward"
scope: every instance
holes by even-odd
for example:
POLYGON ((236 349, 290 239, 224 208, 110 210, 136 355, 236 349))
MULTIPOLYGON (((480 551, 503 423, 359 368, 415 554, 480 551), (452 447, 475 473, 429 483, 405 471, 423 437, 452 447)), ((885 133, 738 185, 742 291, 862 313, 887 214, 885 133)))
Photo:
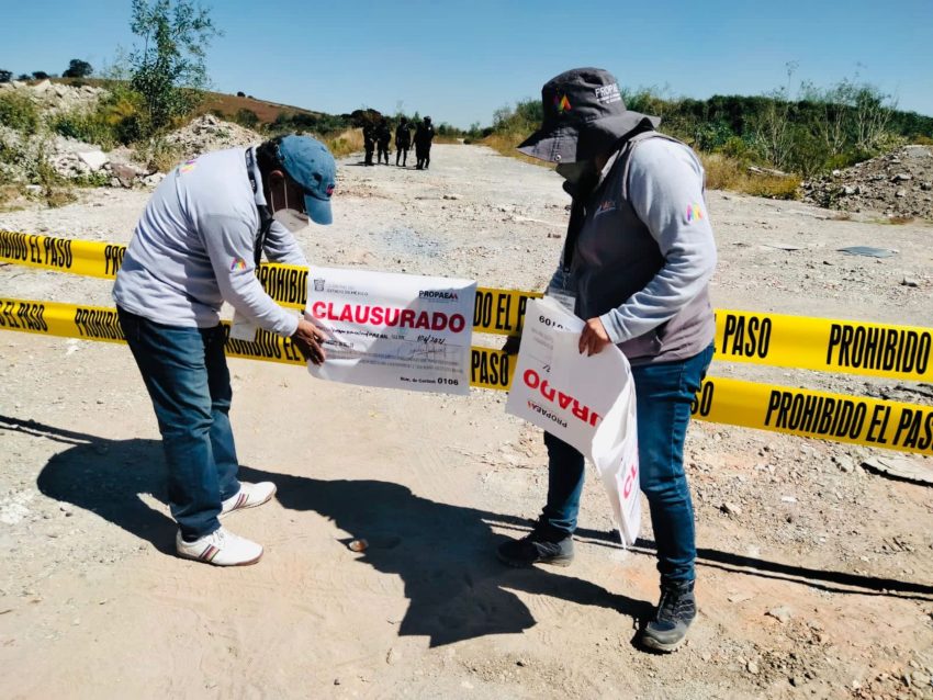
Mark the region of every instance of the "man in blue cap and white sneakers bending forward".
POLYGON ((324 332, 278 306, 255 270, 262 250, 307 264, 292 232, 308 217, 331 222, 335 178, 333 156, 307 136, 215 151, 172 170, 136 225, 113 298, 158 419, 182 557, 231 566, 262 556, 261 545, 218 520, 276 493, 269 482, 237 481, 220 311, 226 301, 255 326, 290 337, 312 362, 324 361, 324 332))

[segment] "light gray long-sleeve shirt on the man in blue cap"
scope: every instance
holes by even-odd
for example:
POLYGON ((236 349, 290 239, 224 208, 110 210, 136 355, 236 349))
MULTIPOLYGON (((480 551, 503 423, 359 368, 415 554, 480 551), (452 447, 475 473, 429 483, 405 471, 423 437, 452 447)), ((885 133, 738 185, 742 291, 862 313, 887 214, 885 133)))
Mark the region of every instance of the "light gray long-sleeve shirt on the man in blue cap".
MULTIPOLYGON (((291 336, 297 316, 276 304, 255 274, 258 206, 246 151, 205 154, 172 170, 153 193, 116 274, 114 301, 128 312, 168 326, 210 328, 226 301, 260 328, 291 336)), ((306 266, 284 226, 273 222, 263 246, 276 262, 306 266)))

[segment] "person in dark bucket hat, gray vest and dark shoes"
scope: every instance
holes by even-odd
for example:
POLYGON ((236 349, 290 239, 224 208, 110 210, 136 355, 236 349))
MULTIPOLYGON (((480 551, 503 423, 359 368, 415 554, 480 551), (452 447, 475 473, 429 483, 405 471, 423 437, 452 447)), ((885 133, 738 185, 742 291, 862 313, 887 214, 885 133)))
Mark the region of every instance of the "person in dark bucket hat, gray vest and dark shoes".
MULTIPOLYGON (((661 601, 641 640, 677 648, 696 616, 694 510, 684 472, 690 402, 715 331, 708 284, 716 244, 704 170, 660 120, 626 109, 605 70, 561 74, 541 91, 543 124, 519 150, 555 162, 573 197, 564 255, 549 293, 586 319, 580 352, 617 345, 632 365, 641 489, 657 545, 661 601)), ((548 500, 530 534, 501 545, 513 566, 573 558, 583 456, 551 434, 548 500)))

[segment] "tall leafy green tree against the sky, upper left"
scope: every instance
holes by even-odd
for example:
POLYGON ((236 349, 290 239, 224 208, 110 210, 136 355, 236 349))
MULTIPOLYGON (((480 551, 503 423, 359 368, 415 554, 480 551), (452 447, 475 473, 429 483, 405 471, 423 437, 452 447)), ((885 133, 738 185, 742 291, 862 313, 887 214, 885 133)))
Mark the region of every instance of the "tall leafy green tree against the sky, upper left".
POLYGON ((204 56, 222 32, 192 0, 133 0, 130 29, 143 39, 130 54, 133 88, 153 129, 189 114, 207 83, 204 56))

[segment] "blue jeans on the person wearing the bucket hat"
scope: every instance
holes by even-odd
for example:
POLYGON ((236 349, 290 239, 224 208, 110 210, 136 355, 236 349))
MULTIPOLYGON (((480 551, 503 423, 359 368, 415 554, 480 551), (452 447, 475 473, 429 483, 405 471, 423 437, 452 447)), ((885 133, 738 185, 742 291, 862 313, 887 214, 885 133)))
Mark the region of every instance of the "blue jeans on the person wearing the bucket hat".
MULTIPOLYGON (((684 473, 684 439, 690 402, 711 359, 712 346, 683 362, 632 368, 641 490, 651 510, 662 584, 693 582, 696 577, 694 505, 684 473)), ((566 535, 576 529, 583 455, 550 433, 544 433, 544 444, 549 456, 548 504, 541 520, 547 531, 566 535)))

